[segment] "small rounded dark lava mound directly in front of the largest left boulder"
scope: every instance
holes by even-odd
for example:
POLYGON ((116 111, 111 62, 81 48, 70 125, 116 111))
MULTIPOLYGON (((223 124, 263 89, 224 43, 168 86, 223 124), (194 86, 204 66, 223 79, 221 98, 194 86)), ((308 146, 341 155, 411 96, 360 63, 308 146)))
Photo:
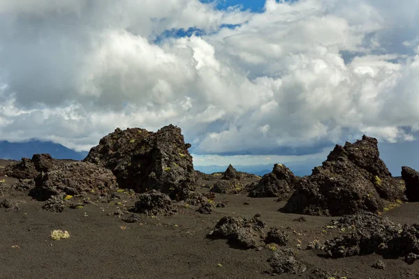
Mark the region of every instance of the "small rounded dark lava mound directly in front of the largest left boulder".
POLYGON ((147 216, 167 216, 175 213, 170 197, 156 190, 140 194, 132 211, 135 213, 142 213, 147 216))

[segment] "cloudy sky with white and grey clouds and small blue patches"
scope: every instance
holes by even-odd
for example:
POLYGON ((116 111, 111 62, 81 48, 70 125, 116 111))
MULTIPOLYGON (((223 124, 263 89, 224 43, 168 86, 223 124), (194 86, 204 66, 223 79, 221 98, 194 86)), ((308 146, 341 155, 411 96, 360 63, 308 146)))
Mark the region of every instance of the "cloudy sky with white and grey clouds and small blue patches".
POLYGON ((194 163, 256 165, 366 134, 419 168, 419 1, 403 3, 0 0, 0 140, 88 151, 172 123, 194 163))

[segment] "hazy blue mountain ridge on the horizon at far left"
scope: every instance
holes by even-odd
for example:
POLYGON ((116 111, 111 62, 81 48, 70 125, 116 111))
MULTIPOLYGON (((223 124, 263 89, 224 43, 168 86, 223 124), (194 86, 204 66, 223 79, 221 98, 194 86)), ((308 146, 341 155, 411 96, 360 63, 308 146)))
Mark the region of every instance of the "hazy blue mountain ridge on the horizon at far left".
POLYGON ((41 142, 29 140, 27 142, 0 141, 0 158, 20 160, 21 158, 32 158, 36 153, 49 153, 52 158, 82 160, 89 152, 78 152, 69 149, 64 145, 54 142, 41 142))

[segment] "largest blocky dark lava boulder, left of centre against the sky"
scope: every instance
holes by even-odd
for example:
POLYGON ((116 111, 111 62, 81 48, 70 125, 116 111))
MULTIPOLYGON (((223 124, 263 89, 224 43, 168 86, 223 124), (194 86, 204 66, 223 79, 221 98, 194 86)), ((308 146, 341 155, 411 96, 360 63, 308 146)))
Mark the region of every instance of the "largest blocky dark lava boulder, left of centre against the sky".
POLYGON ((182 199, 194 190, 196 174, 180 128, 165 126, 156 133, 140 128, 117 128, 93 147, 86 162, 112 170, 119 186, 138 193, 160 190, 182 199))

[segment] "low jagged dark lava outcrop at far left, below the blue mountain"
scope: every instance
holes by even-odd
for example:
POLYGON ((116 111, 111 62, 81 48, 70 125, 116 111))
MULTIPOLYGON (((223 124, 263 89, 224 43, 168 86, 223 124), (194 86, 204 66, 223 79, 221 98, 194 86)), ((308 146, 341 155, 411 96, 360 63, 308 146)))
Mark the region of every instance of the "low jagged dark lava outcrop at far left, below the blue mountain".
POLYGON ((5 174, 17 179, 34 179, 40 172, 49 172, 58 165, 63 162, 53 159, 50 154, 34 154, 32 159, 22 158, 21 162, 6 166, 5 174))

